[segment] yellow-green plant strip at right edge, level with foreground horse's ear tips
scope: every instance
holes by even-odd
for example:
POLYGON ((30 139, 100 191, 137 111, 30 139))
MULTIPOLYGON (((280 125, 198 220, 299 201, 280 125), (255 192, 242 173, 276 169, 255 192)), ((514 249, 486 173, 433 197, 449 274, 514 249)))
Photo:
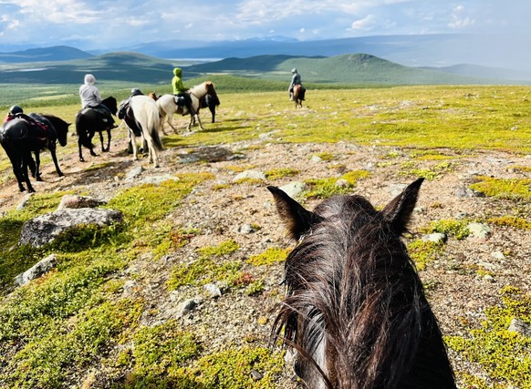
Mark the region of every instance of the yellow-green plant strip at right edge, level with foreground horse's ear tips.
POLYGON ((531 179, 496 179, 479 176, 470 189, 498 199, 531 199, 531 179))

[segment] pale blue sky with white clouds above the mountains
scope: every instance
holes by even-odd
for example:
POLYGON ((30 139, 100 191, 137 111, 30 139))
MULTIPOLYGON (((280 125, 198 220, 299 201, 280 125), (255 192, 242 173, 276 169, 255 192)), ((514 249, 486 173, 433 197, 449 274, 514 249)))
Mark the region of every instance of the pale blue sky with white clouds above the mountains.
POLYGON ((95 50, 172 39, 274 36, 531 37, 529 15, 531 0, 0 0, 0 51, 18 45, 95 50))

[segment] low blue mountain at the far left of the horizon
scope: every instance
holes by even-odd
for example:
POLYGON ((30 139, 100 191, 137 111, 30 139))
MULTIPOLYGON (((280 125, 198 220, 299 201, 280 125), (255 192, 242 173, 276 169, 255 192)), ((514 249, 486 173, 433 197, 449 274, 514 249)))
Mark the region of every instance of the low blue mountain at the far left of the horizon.
POLYGON ((0 63, 27 63, 87 59, 93 55, 70 46, 28 48, 12 53, 0 53, 0 63))

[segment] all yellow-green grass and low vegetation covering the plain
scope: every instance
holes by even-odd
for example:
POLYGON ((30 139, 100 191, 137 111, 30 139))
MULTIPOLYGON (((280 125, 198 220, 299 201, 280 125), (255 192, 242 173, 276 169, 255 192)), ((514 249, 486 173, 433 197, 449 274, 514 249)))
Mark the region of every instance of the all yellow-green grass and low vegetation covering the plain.
MULTIPOLYGON (((528 87, 308 88, 305 108, 294 110, 287 104, 283 89, 258 92, 257 85, 265 86, 260 81, 229 93, 228 84, 217 84, 223 119, 186 137, 165 137, 166 148, 233 145, 243 140, 251 140, 248 148, 253 149, 265 149, 268 142, 343 141, 390 146, 396 151, 389 152, 386 162, 395 164, 403 156, 411 159, 406 165, 396 163, 397 175, 400 172, 429 179, 451 172, 454 164, 479 149, 531 153, 531 118, 526 115, 531 104, 527 100, 528 87), (275 131, 273 138, 259 138, 270 131, 275 131)), ((25 107, 74 121, 77 86, 76 93, 68 92, 67 87, 56 92, 51 86, 34 87, 33 91, 26 90, 25 96, 39 98, 32 98, 25 107), (42 99, 43 94, 57 97, 42 99)), ((130 86, 104 84, 101 89, 104 96, 125 97, 130 86)), ((73 128, 70 130, 73 132, 73 128)), ((75 143, 70 140, 67 148, 59 148, 59 159, 74 153, 75 143)), ((0 151, 0 182, 4 183, 13 178, 3 153, 0 151)), ((300 176, 309 186, 307 199, 321 199, 351 192, 359 179, 372 174, 369 170, 350 170, 352 167, 342 164, 339 153, 328 155, 313 149, 304 156, 308 163, 312 155, 318 155, 330 168, 326 179, 303 177, 290 167, 289 160, 279 161, 274 169, 265 171, 265 176, 271 181, 300 176), (342 179, 342 185, 335 185, 338 179, 342 179)), ((43 163, 49 163, 47 153, 45 157, 48 159, 43 163)), ((226 169, 234 172, 252 166, 250 162, 231 163, 226 169)), ((108 168, 95 164, 92 172, 108 168)), ((513 169, 518 174, 529 171, 526 166, 513 169)), ((106 207, 124 214, 125 222, 120 227, 71 230, 41 249, 18 246, 23 223, 55 210, 64 194, 78 193, 39 192, 27 201, 24 210, 0 215, 0 387, 80 387, 82 379, 89 380, 88 370, 94 366, 105 372, 107 387, 114 388, 276 387, 276 377, 284 368, 281 354, 255 343, 224 344, 220 349, 206 350, 197 333, 182 328, 181 323, 141 323, 151 302, 122 296, 123 274, 132 263, 157 263, 183 248, 190 255, 176 259, 178 264, 163 284, 168 292, 195 292, 204 283, 223 282, 229 293, 224 298, 237 295, 238 299, 255 299, 268 293, 275 296, 276 289, 255 274, 278 266, 288 251, 271 242, 263 252, 249 255, 245 244, 233 240, 193 247, 190 242, 205 233, 169 221, 181 209, 183 199, 202 182, 215 179, 215 174, 194 171, 176 174, 175 178, 161 185, 145 184, 117 193, 106 207), (13 288, 16 274, 52 252, 57 254, 57 269, 25 287, 13 288), (252 380, 252 370, 263 378, 252 380)), ((528 179, 479 177, 471 188, 492 200, 509 200, 511 204, 516 200, 514 208, 523 203, 524 209, 529 200, 528 187, 528 179)), ((514 213, 486 215, 485 221, 500 228, 529 230, 528 210, 514 209, 514 213)), ((439 231, 462 240, 469 233, 466 226, 470 221, 435 220, 424 232, 439 231)), ((442 244, 422 241, 412 241, 408 248, 421 270, 435 259, 441 260, 444 251, 442 244)), ((462 336, 447 338, 460 358, 477 363, 485 372, 478 377, 458 371, 463 387, 529 388, 531 345, 528 339, 506 331, 507 320, 513 316, 531 322, 529 297, 507 288, 500 299, 499 306, 487 309, 480 327, 464 327, 462 336)), ((260 320, 267 322, 264 316, 260 320)), ((97 383, 93 387, 104 386, 98 374, 91 379, 97 383)))

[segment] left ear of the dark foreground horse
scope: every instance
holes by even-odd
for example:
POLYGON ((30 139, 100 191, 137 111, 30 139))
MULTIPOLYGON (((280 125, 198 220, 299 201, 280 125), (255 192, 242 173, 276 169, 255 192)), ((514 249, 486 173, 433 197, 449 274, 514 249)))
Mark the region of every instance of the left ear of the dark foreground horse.
POLYGON ((296 200, 287 196, 286 192, 273 186, 267 187, 273 194, 276 210, 280 219, 286 224, 289 236, 297 241, 311 230, 314 224, 322 220, 320 216, 306 210, 296 200))

